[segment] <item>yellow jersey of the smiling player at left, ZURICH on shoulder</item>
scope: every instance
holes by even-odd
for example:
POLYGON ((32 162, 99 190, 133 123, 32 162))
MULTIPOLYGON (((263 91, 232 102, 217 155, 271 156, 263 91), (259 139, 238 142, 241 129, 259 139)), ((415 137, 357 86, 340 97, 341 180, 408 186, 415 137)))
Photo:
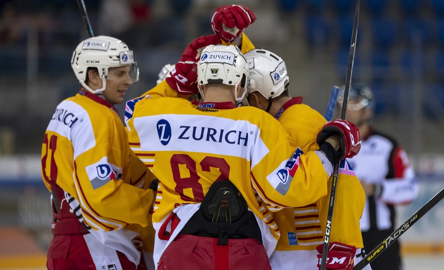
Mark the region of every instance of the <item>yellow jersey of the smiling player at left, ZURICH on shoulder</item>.
POLYGON ((131 223, 147 226, 154 175, 132 153, 119 115, 88 92, 62 101, 46 129, 42 177, 75 198, 86 225, 114 231, 131 223))

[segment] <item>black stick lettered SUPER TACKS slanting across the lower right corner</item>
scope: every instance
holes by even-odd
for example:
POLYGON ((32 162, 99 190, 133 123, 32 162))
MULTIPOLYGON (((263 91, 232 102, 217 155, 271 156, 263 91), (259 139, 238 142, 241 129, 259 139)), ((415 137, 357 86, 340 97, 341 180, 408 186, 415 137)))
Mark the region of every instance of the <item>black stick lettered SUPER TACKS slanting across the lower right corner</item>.
POLYGON ((360 262, 358 262, 353 270, 361 270, 379 254, 386 250, 390 245, 398 240, 406 230, 408 230, 415 222, 422 218, 429 210, 435 206, 444 197, 444 189, 441 189, 433 198, 424 204, 415 214, 407 219, 401 226, 394 230, 384 241, 377 245, 370 253, 368 253, 360 262))

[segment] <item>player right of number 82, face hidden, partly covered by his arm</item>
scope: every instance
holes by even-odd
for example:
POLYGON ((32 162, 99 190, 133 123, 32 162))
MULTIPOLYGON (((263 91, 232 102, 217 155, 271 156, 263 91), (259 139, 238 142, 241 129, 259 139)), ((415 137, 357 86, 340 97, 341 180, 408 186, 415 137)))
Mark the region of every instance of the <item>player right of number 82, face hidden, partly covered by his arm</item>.
MULTIPOLYGON (((318 149, 316 134, 327 121, 316 110, 303 104, 302 97, 291 98, 284 60, 260 48, 247 52, 245 57, 251 81, 249 104, 273 115, 303 152, 318 149)), ((344 243, 352 247, 351 250, 358 249, 358 254, 361 254, 363 244, 359 219, 364 209, 365 195, 346 160, 341 163, 339 175, 330 242, 344 243)), ((274 213, 281 237, 270 258, 273 269, 316 269, 313 262, 318 260, 316 247, 324 240, 329 199, 330 196, 324 196, 309 205, 285 208, 274 213)), ((353 258, 353 253, 347 256, 350 266, 353 259, 356 262, 361 259, 353 258)), ((339 268, 335 263, 328 263, 327 269, 331 267, 339 268)))

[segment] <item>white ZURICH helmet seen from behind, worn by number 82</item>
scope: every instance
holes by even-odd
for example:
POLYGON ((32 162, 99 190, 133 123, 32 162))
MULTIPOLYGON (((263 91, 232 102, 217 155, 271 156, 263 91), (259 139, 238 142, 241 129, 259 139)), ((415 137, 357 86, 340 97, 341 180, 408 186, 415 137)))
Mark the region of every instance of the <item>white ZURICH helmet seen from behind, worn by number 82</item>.
MULTIPOLYGON (((248 67, 244 55, 234 45, 209 45, 200 55, 197 64, 197 83, 200 85, 222 83, 234 86, 236 100, 243 99, 248 94, 248 67), (244 87, 242 97, 237 97, 238 85, 244 87)), ((200 93, 203 98, 203 93, 200 93)))

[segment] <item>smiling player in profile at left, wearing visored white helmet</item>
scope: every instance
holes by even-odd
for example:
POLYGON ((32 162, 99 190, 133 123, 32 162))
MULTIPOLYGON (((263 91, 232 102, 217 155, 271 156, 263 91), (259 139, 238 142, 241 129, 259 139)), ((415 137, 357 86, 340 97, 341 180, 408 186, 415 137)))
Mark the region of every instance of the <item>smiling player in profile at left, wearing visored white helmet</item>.
POLYGON ((149 188, 154 175, 131 151, 114 107, 138 80, 133 51, 112 37, 88 38, 71 65, 81 88, 57 105, 42 145, 54 218, 47 267, 145 269, 139 243, 150 237, 157 184, 149 188))

